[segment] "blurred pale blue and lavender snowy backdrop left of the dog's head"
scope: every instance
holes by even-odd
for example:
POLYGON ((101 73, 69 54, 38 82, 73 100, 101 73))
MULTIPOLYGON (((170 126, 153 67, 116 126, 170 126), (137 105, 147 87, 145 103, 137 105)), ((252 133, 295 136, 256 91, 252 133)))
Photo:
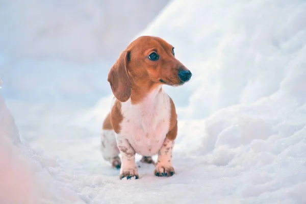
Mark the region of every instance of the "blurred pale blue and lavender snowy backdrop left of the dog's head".
POLYGON ((93 106, 109 94, 105 72, 118 53, 167 3, 1 1, 2 94, 30 103, 78 100, 93 106))

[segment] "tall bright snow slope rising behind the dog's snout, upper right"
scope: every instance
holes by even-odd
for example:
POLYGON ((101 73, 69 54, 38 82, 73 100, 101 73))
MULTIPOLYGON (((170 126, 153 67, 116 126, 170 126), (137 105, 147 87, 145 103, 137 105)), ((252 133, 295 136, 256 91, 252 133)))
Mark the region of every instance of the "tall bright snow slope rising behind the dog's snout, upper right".
POLYGON ((278 91, 305 96, 305 9, 299 0, 174 1, 140 35, 174 45, 193 77, 168 90, 184 106, 180 115, 205 118, 278 91))

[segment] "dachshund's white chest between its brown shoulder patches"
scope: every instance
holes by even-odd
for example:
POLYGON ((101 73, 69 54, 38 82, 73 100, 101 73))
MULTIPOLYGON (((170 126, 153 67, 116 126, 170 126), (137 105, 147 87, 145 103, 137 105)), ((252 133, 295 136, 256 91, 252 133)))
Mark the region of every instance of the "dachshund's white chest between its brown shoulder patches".
POLYGON ((163 91, 154 90, 139 104, 130 101, 121 104, 123 120, 120 136, 143 156, 158 154, 169 131, 171 104, 163 91))

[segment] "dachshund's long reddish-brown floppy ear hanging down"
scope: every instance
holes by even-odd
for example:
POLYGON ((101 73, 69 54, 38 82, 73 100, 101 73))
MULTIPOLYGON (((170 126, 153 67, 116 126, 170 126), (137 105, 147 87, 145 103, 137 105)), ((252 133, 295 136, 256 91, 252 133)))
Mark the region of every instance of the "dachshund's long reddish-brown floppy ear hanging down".
POLYGON ((130 52, 122 52, 112 66, 107 81, 110 83, 113 94, 121 101, 125 102, 131 97, 131 80, 127 73, 130 52))

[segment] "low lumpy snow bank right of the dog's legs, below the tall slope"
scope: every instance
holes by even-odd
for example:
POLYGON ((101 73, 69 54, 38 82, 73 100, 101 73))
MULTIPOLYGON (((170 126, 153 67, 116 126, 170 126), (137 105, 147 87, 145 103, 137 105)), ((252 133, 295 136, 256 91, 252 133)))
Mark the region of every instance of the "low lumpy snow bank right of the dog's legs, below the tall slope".
POLYGON ((198 161, 195 173, 208 173, 202 181, 213 190, 203 197, 213 192, 233 202, 304 203, 305 115, 306 105, 292 98, 228 107, 205 120, 180 121, 176 150, 198 161))

